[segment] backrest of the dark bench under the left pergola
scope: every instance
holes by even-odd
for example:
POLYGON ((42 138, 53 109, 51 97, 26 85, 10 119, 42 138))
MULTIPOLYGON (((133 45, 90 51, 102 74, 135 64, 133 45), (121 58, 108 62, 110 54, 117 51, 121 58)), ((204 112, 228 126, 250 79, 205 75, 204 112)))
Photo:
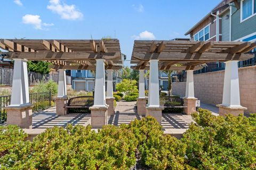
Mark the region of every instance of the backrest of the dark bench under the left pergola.
POLYGON ((91 107, 93 106, 93 96, 78 96, 75 98, 70 98, 68 100, 68 106, 84 106, 91 107))

